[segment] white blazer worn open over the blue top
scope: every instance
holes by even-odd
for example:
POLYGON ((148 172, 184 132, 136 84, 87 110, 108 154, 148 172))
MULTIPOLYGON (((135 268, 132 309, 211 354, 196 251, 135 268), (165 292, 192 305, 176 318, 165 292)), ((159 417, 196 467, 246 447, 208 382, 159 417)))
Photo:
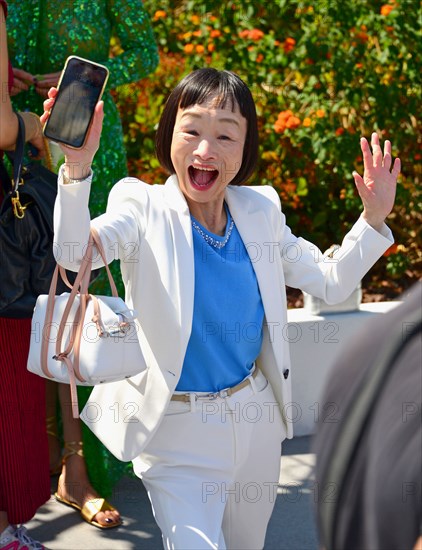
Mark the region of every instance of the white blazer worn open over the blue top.
MULTIPOLYGON (((55 208, 56 257, 78 269, 88 241, 90 178, 63 185, 55 208)), ((343 301, 392 244, 359 218, 335 261, 324 261, 311 243, 286 225, 278 194, 269 186, 229 186, 225 199, 256 272, 265 311, 257 365, 280 406, 287 437, 293 427, 291 366, 286 339, 285 285, 343 301)), ((165 185, 125 178, 110 192, 107 212, 92 221, 107 260, 119 258, 126 302, 138 312, 147 370, 131 379, 96 386, 81 418, 120 460, 138 456, 160 424, 179 380, 192 326, 194 255, 188 205, 177 177, 165 185)), ((98 261, 95 267, 100 266, 98 261)))

